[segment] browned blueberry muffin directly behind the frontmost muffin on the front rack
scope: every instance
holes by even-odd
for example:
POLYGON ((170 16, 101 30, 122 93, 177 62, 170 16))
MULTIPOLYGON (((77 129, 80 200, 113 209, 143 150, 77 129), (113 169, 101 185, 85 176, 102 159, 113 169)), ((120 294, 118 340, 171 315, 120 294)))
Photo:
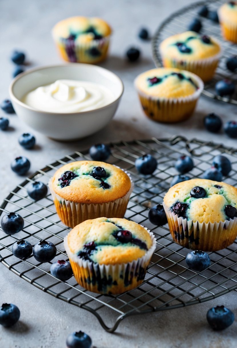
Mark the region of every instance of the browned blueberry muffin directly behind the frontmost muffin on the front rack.
POLYGON ((60 220, 74 227, 96 217, 123 217, 133 185, 112 164, 77 161, 59 168, 49 188, 60 220))

